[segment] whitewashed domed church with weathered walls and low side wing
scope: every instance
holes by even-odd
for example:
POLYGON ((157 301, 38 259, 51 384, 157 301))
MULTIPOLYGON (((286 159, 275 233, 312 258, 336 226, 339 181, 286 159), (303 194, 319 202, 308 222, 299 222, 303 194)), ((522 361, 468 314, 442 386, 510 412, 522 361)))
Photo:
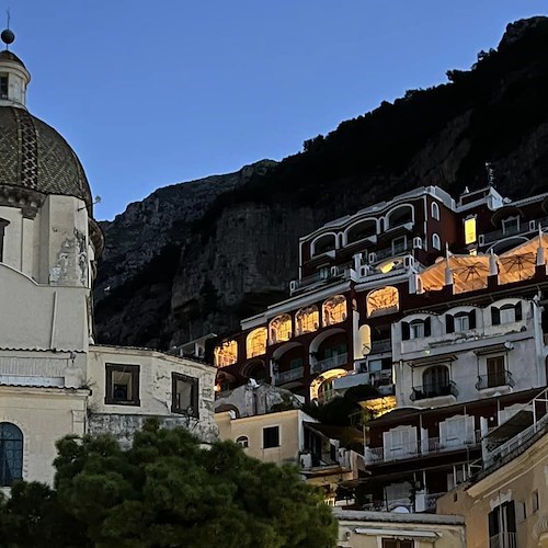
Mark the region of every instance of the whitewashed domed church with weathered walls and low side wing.
POLYGON ((92 283, 103 238, 78 157, 25 105, 30 72, 0 52, 0 487, 52 481, 55 442, 148 416, 216 438, 215 369, 93 344, 92 283))

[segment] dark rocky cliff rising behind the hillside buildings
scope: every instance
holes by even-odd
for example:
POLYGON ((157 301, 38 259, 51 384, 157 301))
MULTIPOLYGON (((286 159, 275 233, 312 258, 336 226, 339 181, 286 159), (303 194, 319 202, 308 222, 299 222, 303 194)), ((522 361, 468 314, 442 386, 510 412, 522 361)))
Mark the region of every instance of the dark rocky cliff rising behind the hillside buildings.
POLYGON ((548 191, 548 19, 509 25, 447 76, 279 163, 158 190, 104 222, 98 341, 167 349, 236 330, 287 295, 299 236, 415 186, 484 185, 486 162, 503 194, 548 191))

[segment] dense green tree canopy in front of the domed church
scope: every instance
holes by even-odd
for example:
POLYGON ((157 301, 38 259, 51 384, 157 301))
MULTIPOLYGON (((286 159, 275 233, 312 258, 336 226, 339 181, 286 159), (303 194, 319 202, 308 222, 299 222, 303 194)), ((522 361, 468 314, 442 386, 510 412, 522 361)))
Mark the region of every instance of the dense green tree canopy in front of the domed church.
POLYGON ((150 421, 121 448, 107 434, 57 443, 54 489, 19 482, 0 505, 2 546, 329 547, 336 521, 293 467, 232 442, 202 448, 150 421))

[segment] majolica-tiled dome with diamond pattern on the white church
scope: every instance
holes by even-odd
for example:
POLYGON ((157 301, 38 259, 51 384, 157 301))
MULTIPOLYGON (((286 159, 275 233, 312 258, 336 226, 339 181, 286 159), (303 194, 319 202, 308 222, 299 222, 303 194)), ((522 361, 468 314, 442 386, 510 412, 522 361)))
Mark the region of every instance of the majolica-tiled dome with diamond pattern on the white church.
POLYGON ((77 196, 91 206, 85 173, 68 142, 15 106, 0 106, 0 185, 77 196))

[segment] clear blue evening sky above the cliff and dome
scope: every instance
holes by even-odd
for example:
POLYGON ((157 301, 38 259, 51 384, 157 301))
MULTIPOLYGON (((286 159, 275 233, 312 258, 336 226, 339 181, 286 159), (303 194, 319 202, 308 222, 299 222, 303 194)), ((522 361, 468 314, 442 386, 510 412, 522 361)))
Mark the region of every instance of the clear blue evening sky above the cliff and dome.
MULTIPOLYGON (((31 112, 72 145, 95 217, 155 189, 279 160, 446 81, 546 0, 0 0, 31 112)), ((3 23, 3 21, 2 21, 3 23)))

